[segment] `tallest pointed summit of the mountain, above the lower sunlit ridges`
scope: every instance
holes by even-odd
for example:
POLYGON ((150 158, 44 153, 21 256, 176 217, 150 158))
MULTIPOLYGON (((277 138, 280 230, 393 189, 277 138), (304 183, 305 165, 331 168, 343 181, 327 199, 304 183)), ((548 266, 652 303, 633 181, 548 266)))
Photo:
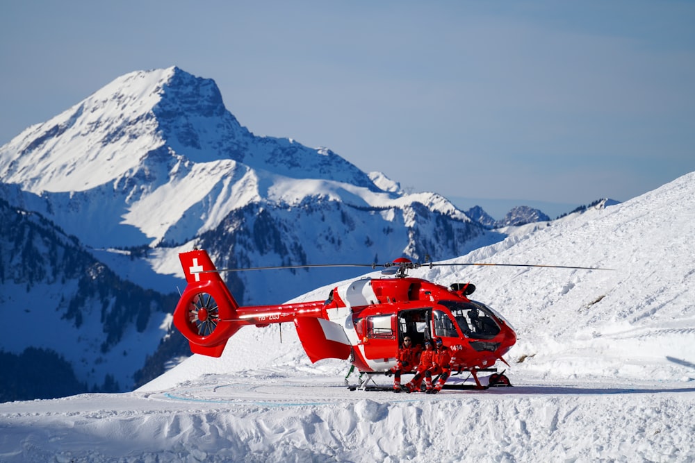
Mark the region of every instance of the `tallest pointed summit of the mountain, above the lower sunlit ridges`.
POLYGON ((0 180, 40 193, 108 183, 149 189, 175 167, 235 160, 291 178, 338 180, 377 190, 366 174, 327 149, 256 137, 224 107, 212 79, 178 67, 136 71, 0 148, 0 180))

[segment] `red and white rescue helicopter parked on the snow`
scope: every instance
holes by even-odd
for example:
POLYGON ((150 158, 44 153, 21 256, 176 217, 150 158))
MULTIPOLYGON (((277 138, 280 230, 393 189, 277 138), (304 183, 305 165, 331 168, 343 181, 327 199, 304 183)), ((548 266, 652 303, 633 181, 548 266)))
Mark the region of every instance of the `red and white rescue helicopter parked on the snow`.
POLYGON ((410 337, 414 345, 441 339, 452 350, 452 373, 470 373, 475 389, 510 385, 504 372, 492 374, 486 385, 478 378, 481 371, 496 372, 498 361, 507 364, 502 355, 516 342, 516 332, 509 322, 487 305, 468 298, 475 291, 474 285, 455 283, 447 288, 411 278, 407 276, 409 269, 436 265, 589 269, 532 264, 418 264, 405 258, 382 265, 257 267, 384 267, 386 278, 359 278, 339 285, 325 301, 241 307, 220 277, 220 271, 240 269, 215 269, 208 253, 199 249, 180 253, 179 259, 187 286, 174 310, 174 326, 188 339, 193 353, 220 357, 227 339, 242 326, 291 321, 311 362, 349 359, 360 373, 367 373, 367 379, 361 382, 363 389, 375 374, 388 374, 395 366, 404 337, 410 337))

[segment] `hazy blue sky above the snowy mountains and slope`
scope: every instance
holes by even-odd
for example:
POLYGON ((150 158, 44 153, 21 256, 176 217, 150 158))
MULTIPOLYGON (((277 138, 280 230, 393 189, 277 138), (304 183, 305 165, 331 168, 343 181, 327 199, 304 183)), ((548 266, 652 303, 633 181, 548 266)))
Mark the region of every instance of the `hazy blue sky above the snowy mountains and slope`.
POLYGON ((0 144, 117 76, 500 218, 695 171, 693 1, 5 1, 0 144))

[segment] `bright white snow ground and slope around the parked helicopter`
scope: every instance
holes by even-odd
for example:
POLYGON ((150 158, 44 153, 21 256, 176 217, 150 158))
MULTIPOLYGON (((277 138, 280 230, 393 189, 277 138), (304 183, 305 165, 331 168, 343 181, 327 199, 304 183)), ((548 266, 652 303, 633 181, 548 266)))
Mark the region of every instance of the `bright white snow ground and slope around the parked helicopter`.
POLYGON ((0 404, 0 461, 694 461, 693 249, 688 174, 455 260, 610 270, 412 272, 475 283, 512 323, 498 367, 514 387, 351 391, 348 365, 311 364, 293 326, 244 328, 222 357, 194 355, 135 392, 0 404))

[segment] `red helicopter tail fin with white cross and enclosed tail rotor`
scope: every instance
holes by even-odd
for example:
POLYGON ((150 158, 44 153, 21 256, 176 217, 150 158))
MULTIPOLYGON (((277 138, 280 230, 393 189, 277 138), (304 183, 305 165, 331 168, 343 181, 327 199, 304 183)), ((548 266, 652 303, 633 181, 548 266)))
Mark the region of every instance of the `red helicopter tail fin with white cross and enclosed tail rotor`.
POLYGON ((187 285, 174 310, 174 326, 193 353, 220 357, 227 339, 246 324, 237 317, 239 305, 206 251, 180 253, 179 260, 187 285))

